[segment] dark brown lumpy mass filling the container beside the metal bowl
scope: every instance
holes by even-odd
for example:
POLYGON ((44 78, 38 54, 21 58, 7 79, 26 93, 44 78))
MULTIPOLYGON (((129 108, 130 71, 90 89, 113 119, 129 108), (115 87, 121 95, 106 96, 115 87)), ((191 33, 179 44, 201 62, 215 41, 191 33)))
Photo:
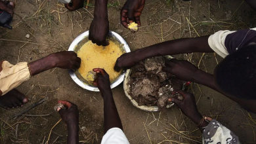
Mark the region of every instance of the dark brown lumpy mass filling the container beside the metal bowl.
POLYGON ((164 109, 173 90, 181 90, 184 82, 161 71, 165 61, 165 56, 148 58, 131 68, 128 84, 131 98, 138 105, 158 105, 160 109, 164 109))

